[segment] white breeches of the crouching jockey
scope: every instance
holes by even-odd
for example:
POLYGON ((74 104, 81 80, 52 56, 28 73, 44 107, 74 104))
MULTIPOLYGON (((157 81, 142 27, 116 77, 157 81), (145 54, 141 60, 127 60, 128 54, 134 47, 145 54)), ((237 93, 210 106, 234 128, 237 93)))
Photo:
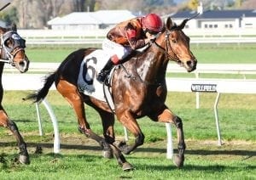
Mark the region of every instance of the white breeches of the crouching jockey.
POLYGON ((104 39, 102 42, 102 49, 113 56, 116 54, 119 59, 124 59, 129 53, 131 53, 131 48, 125 48, 119 43, 112 42, 109 39, 104 39))

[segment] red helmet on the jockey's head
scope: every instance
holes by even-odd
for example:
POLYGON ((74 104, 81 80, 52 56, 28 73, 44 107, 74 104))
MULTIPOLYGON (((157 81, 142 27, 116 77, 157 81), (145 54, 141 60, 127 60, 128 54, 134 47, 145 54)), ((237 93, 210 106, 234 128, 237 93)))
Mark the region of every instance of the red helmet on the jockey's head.
POLYGON ((157 14, 148 14, 143 20, 143 27, 148 29, 148 31, 160 32, 163 28, 163 23, 157 14))

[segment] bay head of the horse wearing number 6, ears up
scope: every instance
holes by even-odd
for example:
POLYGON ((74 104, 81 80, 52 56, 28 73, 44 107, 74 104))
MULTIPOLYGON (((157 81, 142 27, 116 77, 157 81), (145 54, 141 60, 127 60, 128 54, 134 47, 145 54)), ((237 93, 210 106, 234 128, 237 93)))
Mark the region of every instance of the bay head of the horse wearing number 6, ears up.
POLYGON ((188 20, 190 19, 183 20, 181 25, 176 25, 169 17, 162 32, 162 38, 165 38, 165 40, 162 39, 162 42, 166 43, 165 49, 168 58, 191 72, 196 69, 197 60, 189 49, 189 37, 182 31, 188 20))

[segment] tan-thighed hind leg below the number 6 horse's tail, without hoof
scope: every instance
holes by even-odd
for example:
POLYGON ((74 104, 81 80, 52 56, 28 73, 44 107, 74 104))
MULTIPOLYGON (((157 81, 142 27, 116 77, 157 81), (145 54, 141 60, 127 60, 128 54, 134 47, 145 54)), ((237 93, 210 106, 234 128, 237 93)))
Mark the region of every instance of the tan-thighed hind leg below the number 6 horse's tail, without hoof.
POLYGON ((67 99, 69 104, 72 105, 73 110, 78 117, 79 132, 84 133, 85 136, 88 138, 96 140, 96 142, 100 144, 103 150, 111 151, 111 148, 109 147, 109 144, 105 141, 105 139, 98 136, 90 129, 90 124, 86 121, 85 117, 84 101, 80 96, 77 87, 65 80, 61 80, 57 85, 57 90, 64 98, 67 99))

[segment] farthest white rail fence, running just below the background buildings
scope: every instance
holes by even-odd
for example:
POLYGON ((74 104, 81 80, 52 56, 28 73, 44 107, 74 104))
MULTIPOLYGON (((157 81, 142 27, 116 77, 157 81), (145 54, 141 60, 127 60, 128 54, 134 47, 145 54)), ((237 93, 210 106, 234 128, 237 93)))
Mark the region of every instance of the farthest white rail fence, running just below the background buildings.
MULTIPOLYGON (((94 31, 56 31, 56 30, 19 30, 26 44, 99 44, 102 43, 108 30, 94 31)), ((256 30, 234 29, 184 29, 191 43, 255 43, 256 30)))

